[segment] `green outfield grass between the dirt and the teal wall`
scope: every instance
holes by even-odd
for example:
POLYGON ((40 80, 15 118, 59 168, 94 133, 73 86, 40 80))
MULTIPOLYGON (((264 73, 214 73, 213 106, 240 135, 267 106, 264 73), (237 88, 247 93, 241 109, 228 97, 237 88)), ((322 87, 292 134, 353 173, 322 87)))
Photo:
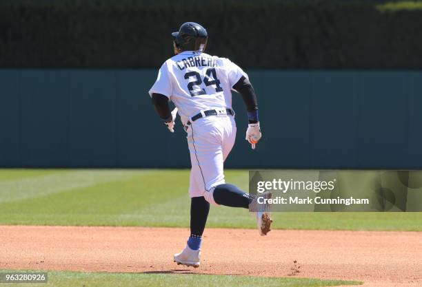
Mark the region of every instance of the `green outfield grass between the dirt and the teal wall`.
MULTIPOLYGON (((188 226, 188 170, 0 169, 0 224, 188 226)), ((248 189, 248 171, 226 171, 248 189)), ((273 228, 422 231, 422 213, 273 213, 273 228)), ((254 228, 212 206, 208 227, 254 228)))

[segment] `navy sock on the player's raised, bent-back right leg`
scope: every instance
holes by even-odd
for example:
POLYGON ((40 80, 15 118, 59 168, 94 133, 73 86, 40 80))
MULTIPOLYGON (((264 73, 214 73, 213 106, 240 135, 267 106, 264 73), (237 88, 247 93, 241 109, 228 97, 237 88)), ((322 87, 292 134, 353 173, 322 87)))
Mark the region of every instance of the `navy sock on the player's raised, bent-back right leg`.
POLYGON ((217 204, 249 209, 252 200, 252 195, 241 191, 233 184, 219 184, 214 188, 214 201, 217 204))

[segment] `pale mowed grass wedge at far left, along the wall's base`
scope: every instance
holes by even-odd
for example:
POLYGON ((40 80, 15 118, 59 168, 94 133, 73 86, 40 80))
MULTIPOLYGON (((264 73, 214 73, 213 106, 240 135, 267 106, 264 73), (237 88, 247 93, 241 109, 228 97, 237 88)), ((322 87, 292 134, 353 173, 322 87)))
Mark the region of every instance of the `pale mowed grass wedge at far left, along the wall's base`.
POLYGON ((29 178, 14 178, 0 181, 0 202, 14 202, 35 198, 70 189, 81 189, 103 182, 127 179, 145 171, 77 170, 40 174, 29 178))

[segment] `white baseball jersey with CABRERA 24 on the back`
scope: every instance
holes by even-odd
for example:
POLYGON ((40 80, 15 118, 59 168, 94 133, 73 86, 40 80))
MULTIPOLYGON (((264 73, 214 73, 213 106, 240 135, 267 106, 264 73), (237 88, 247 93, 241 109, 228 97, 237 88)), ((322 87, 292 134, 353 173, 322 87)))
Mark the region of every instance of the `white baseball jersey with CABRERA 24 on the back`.
POLYGON ((183 123, 201 110, 232 107, 232 87, 248 75, 229 59, 181 52, 163 63, 149 94, 163 94, 179 109, 183 123))

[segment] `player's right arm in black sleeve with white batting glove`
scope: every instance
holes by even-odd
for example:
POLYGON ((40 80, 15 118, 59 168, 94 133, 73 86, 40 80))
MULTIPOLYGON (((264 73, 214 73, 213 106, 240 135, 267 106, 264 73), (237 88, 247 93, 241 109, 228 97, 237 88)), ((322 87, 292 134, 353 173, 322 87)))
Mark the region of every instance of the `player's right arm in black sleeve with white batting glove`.
POLYGON ((249 79, 245 76, 241 76, 239 81, 233 85, 233 89, 241 94, 246 109, 248 110, 249 125, 246 131, 245 140, 248 140, 252 145, 252 149, 254 149, 262 136, 259 127, 257 94, 255 94, 254 87, 252 87, 249 79))

